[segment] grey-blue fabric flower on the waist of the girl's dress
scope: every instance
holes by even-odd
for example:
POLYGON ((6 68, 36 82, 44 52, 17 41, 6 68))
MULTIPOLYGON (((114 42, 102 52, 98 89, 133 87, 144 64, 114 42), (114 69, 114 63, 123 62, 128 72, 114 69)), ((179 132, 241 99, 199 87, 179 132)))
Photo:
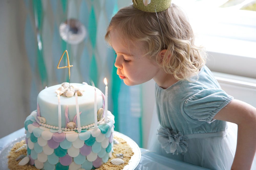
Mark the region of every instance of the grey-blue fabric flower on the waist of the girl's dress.
POLYGON ((158 131, 158 142, 161 144, 162 148, 166 151, 166 153, 178 154, 178 153, 186 153, 188 144, 182 133, 177 133, 168 128, 161 127, 158 131))

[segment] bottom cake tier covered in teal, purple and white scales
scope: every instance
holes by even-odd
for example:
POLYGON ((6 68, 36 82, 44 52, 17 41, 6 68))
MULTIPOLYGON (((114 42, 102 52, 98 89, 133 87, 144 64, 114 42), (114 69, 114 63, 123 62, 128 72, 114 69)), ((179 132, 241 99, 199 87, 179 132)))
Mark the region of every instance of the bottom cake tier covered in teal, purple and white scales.
POLYGON ((113 152, 113 121, 90 129, 62 131, 40 126, 33 116, 25 121, 29 164, 38 169, 95 169, 113 152))

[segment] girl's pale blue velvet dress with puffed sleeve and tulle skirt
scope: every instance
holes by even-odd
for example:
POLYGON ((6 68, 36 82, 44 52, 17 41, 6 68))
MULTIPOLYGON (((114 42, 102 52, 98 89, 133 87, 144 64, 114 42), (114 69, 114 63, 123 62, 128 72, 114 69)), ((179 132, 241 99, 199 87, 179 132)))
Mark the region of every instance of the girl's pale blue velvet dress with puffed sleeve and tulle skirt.
MULTIPOLYGON (((156 84, 158 127, 153 151, 209 169, 230 170, 237 126, 213 117, 232 99, 204 66, 198 76, 167 89, 156 84), (198 78, 198 80, 197 80, 198 78)), ((253 165, 252 169, 256 166, 253 165)))

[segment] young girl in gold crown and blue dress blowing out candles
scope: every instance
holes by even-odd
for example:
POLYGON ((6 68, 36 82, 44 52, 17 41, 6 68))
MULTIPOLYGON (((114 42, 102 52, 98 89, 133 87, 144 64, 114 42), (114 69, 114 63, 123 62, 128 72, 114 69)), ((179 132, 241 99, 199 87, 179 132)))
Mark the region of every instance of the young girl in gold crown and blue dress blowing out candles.
POLYGON ((117 12, 105 35, 126 85, 156 82, 161 127, 154 150, 209 169, 256 169, 256 109, 221 89, 186 16, 169 2, 134 1, 117 12), (238 125, 237 146, 226 121, 238 125))

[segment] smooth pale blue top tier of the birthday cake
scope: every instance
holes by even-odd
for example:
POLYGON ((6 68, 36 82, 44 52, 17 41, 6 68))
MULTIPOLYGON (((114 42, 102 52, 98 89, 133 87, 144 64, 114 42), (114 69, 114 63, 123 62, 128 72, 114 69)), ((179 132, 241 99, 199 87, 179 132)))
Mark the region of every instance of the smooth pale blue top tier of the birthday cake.
MULTIPOLYGON (((78 95, 78 105, 80 113, 81 126, 88 126, 94 123, 94 93, 97 93, 97 111, 104 107, 101 91, 87 84, 70 83, 71 89, 79 89, 83 95, 78 95)), ((46 124, 58 126, 58 97, 56 90, 61 87, 61 84, 47 87, 42 90, 37 97, 38 109, 37 115, 44 117, 46 124)), ((61 91, 61 89, 59 89, 61 91)), ((64 90, 62 90, 64 91, 64 90)), ((65 93, 65 92, 64 92, 65 93)), ((61 93, 60 93, 61 94, 61 93)), ((66 127, 67 122, 76 122, 76 99, 75 95, 71 97, 60 95, 61 105, 61 127, 66 127)), ((77 123, 77 122, 76 122, 77 123)))

